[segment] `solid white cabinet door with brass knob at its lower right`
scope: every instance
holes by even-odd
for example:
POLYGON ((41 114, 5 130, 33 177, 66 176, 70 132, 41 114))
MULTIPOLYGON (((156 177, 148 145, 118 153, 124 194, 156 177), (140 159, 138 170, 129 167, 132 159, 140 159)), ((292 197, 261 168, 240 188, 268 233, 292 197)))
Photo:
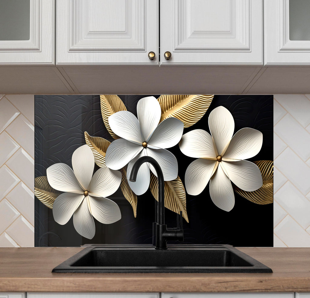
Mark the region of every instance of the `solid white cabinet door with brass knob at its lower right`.
POLYGON ((158 65, 157 0, 58 0, 56 16, 57 65, 158 65))

